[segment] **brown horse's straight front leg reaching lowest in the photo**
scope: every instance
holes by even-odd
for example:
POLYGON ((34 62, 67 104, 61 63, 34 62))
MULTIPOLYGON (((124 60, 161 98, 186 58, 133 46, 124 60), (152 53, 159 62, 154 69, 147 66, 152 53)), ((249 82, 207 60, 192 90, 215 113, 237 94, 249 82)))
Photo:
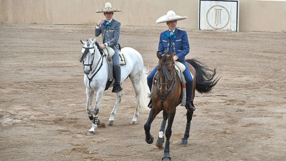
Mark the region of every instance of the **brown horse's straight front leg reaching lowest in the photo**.
POLYGON ((163 155, 163 158, 162 158, 163 161, 170 161, 171 160, 171 156, 170 156, 170 137, 172 135, 172 124, 173 124, 174 117, 175 117, 175 114, 176 114, 175 110, 172 110, 172 111, 169 112, 168 126, 167 126, 166 134, 165 134, 166 135, 166 143, 165 143, 164 155, 163 155))

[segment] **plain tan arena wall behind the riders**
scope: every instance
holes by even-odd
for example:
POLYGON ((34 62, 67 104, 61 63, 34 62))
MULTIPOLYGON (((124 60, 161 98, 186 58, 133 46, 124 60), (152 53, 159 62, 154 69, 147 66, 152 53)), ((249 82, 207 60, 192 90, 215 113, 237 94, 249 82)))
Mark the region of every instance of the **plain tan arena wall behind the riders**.
MULTIPOLYGON (((155 21, 168 10, 188 16, 178 27, 198 29, 198 0, 0 0, 1 23, 96 24, 104 8, 122 9, 114 18, 122 26, 161 26, 155 21)), ((286 32, 286 0, 240 0, 239 31, 286 32)))

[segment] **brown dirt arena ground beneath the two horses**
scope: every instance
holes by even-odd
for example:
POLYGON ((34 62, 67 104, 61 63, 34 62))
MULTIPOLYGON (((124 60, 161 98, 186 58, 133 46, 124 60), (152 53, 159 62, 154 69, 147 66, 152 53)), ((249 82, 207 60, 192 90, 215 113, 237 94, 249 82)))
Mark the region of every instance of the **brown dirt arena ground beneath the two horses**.
MULTIPOLYGON (((80 39, 94 38, 94 27, 0 24, 1 161, 161 160, 164 149, 144 141, 149 111, 139 111, 137 125, 130 125, 136 103, 130 79, 122 85, 114 126, 102 124, 87 136, 91 121, 78 57, 80 39)), ((121 30, 121 46, 138 50, 150 72, 166 28, 121 30)), ((216 66, 221 79, 211 93, 196 93, 186 146, 180 145, 186 109, 177 107, 172 160, 286 160, 286 33, 184 30, 190 43, 186 58, 216 66)), ((114 99, 111 89, 105 91, 101 123, 108 124, 114 99)), ((161 121, 162 113, 151 127, 155 140, 161 121)))

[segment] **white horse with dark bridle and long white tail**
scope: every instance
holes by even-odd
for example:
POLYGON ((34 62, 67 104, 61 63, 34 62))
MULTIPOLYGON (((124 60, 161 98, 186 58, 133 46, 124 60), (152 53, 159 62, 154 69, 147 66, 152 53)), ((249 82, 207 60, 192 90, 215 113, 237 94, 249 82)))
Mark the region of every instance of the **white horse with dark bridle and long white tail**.
MULTIPOLYGON (((106 55, 100 49, 99 44, 95 39, 88 39, 87 42, 80 40, 83 44, 82 57, 80 62, 84 64, 84 84, 86 85, 86 111, 89 119, 93 122, 91 129, 88 131, 88 135, 94 134, 94 129, 97 124, 100 125, 98 120, 98 112, 100 107, 100 102, 102 100, 103 91, 105 90, 106 83, 108 81, 108 63, 106 60, 106 55), (96 93, 96 102, 94 105, 93 113, 91 114, 91 103, 93 99, 94 92, 96 93)), ((136 97, 136 108, 134 117, 130 124, 137 123, 137 117, 139 115, 139 106, 142 109, 147 110, 149 100, 147 94, 150 92, 147 86, 147 69, 143 66, 142 56, 138 51, 130 47, 124 47, 121 49, 125 59, 128 63, 121 67, 121 80, 122 83, 127 77, 130 78, 132 85, 135 89, 136 97)), ((111 83, 111 86, 113 86, 111 83)), ((120 85, 121 86, 121 85, 120 85)), ((123 89, 124 90, 124 89, 123 89)), ((121 101, 122 91, 116 93, 116 102, 113 110, 111 111, 111 116, 109 118, 108 125, 112 126, 114 124, 114 116, 116 114, 117 107, 121 101)), ((109 101, 110 102, 110 101, 109 101)))

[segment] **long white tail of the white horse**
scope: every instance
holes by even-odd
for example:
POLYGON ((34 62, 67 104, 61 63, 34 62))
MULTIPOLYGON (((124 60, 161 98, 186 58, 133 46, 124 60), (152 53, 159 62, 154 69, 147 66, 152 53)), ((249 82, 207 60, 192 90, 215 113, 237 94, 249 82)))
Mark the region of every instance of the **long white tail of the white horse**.
POLYGON ((141 78, 140 78, 140 87, 139 87, 139 105, 143 110, 150 110, 148 106, 148 103, 150 99, 147 97, 148 94, 150 93, 150 89, 147 84, 147 73, 148 70, 146 69, 145 66, 143 66, 141 78))

